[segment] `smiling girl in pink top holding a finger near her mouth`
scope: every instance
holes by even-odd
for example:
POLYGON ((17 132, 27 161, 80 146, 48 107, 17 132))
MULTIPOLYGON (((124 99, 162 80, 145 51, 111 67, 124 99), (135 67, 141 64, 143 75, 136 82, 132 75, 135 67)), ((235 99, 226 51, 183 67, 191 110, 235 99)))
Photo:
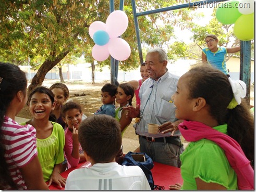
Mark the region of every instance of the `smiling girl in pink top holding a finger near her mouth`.
POLYGON ((82 147, 78 141, 78 129, 82 122, 82 109, 77 103, 69 101, 62 107, 63 121, 66 123, 64 155, 68 168, 77 167, 78 163, 86 161, 82 147))

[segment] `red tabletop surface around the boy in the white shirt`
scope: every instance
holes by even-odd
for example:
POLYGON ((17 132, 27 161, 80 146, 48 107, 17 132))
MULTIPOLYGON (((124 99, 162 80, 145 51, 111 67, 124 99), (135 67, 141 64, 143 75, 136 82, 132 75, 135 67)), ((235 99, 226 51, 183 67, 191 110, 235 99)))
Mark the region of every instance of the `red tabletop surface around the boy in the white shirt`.
MULTIPOLYGON (((90 167, 90 162, 79 163, 76 168, 70 168, 70 169, 64 171, 63 173, 60 173, 60 175, 62 175, 64 178, 67 178, 68 174, 71 171, 81 168, 81 167, 90 167)), ((151 170, 151 172, 153 175, 155 185, 164 186, 165 190, 169 190, 168 187, 170 184, 175 184, 175 183, 183 184, 183 180, 181 178, 179 168, 176 168, 176 167, 173 167, 170 165, 166 165, 166 164, 162 164, 162 163, 154 162, 154 167, 151 170)), ((46 182, 46 183, 48 183, 48 182, 46 182)), ((56 187, 55 184, 52 184, 49 187, 49 189, 50 190, 60 190, 59 188, 56 187)), ((62 190, 64 190, 64 187, 62 188, 62 190)))

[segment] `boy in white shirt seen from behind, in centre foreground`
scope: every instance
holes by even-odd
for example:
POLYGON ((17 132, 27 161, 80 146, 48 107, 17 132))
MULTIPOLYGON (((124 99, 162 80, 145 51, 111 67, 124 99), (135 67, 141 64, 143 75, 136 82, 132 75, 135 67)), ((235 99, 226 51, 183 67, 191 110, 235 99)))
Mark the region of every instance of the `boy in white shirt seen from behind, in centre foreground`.
POLYGON ((115 162, 121 146, 115 118, 105 114, 88 117, 80 124, 78 137, 92 167, 70 172, 65 190, 151 190, 140 167, 115 162))

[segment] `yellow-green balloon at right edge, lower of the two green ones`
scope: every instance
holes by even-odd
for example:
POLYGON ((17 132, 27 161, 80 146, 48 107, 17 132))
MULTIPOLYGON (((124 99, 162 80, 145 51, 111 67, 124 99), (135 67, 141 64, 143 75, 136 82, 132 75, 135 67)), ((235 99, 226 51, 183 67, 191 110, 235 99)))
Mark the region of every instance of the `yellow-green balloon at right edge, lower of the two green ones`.
POLYGON ((237 39, 250 41, 254 38, 254 14, 241 15, 235 22, 234 34, 237 39))

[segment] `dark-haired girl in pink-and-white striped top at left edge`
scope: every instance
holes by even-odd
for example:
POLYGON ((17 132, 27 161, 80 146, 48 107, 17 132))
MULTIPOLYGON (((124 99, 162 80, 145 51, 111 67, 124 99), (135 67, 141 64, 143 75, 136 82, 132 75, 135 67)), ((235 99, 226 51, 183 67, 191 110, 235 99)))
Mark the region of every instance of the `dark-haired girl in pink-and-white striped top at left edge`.
POLYGON ((0 62, 0 189, 48 190, 36 150, 35 129, 15 116, 27 103, 26 74, 0 62))

